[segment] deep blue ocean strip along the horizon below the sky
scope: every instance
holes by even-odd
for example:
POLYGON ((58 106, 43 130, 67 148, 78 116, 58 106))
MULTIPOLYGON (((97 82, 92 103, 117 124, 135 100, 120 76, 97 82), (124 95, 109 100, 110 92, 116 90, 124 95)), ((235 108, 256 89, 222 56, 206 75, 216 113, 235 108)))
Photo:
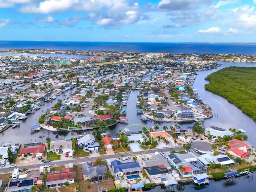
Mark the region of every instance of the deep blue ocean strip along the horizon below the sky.
POLYGON ((181 52, 189 54, 256 54, 256 43, 0 41, 0 50, 39 48, 117 52, 168 52, 171 54, 179 54, 181 52))

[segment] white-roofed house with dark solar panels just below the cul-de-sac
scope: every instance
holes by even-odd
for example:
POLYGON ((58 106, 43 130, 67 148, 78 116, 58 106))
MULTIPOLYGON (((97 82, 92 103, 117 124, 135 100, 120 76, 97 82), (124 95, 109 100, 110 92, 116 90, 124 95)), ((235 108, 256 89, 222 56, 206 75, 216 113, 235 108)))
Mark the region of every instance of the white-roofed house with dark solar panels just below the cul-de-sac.
POLYGON ((210 165, 211 162, 214 162, 216 165, 226 165, 226 166, 232 166, 234 165, 234 161, 231 160, 227 155, 216 155, 213 154, 203 154, 201 156, 198 156, 198 160, 202 162, 204 165, 210 165))

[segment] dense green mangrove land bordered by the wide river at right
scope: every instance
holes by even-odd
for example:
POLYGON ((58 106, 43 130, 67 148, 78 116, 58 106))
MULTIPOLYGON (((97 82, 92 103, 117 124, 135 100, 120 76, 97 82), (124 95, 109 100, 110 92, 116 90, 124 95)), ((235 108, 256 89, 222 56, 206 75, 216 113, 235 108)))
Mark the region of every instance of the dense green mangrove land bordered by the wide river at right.
POLYGON ((205 78, 210 82, 205 85, 205 89, 226 98, 256 120, 255 76, 255 67, 224 68, 205 78))

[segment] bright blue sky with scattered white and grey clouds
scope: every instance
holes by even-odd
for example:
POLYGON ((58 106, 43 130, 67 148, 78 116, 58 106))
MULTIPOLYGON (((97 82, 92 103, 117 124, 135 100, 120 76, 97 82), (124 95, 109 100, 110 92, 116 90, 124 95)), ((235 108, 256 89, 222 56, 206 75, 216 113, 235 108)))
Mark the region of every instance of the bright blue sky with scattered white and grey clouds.
POLYGON ((256 42, 256 0, 0 0, 0 40, 256 42))

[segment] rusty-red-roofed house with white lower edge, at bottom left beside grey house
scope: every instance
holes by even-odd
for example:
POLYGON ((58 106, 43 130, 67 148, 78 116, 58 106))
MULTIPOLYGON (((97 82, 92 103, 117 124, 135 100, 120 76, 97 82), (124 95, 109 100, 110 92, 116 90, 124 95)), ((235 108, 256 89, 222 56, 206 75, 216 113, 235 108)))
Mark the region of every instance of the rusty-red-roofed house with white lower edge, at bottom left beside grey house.
POLYGON ((75 182, 74 167, 63 168, 62 172, 58 173, 48 173, 46 189, 66 186, 66 182, 68 184, 75 182))

